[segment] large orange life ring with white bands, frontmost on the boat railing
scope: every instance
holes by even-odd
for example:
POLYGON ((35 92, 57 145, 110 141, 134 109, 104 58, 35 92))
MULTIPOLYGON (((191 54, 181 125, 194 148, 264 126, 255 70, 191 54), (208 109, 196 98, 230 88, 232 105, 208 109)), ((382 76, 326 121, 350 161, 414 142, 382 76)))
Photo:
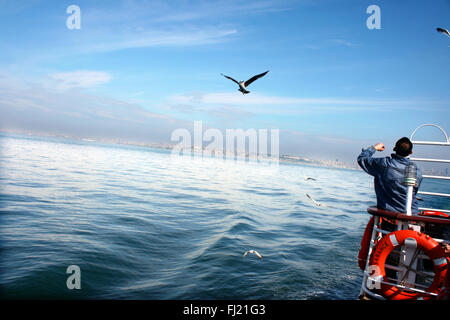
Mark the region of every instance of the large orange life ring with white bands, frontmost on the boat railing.
MULTIPOLYGON (((370 265, 377 267, 378 277, 386 279, 386 270, 384 268, 386 258, 391 251, 405 243, 405 240, 412 238, 415 240, 417 248, 425 252, 434 264, 433 283, 426 290, 427 292, 438 293, 441 285, 445 281, 447 274, 447 259, 444 249, 430 236, 413 230, 399 230, 389 233, 381 238, 370 256, 370 265)), ((389 300, 413 300, 417 298, 430 299, 430 296, 420 292, 408 292, 405 289, 394 285, 381 283, 381 294, 389 300)))

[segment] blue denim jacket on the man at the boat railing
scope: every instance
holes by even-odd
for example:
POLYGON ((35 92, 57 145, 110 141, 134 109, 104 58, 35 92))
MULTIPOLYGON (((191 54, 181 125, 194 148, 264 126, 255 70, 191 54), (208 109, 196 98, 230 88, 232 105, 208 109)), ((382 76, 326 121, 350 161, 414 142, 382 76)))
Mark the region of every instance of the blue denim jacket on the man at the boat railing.
MULTIPOLYGON (((403 158, 396 154, 390 157, 373 158, 375 148, 363 149, 358 156, 359 166, 368 174, 375 177, 375 193, 377 195, 377 207, 394 212, 406 212, 406 195, 408 187, 403 184, 405 168, 409 164, 409 158, 403 158)), ((413 190, 413 202, 411 211, 419 213, 419 204, 416 198, 417 191, 422 182, 422 172, 417 168, 417 186, 413 190)))

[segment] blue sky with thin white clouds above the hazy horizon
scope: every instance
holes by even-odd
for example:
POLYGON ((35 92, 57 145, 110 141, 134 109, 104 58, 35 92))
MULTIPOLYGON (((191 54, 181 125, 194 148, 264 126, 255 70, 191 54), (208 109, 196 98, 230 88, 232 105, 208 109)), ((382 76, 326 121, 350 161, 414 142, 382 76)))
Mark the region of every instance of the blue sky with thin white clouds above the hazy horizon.
POLYGON ((167 143, 202 121, 279 129, 281 154, 354 162, 381 141, 388 155, 423 123, 450 133, 436 27, 449 0, 0 0, 0 130, 167 143), (248 95, 220 75, 267 70, 248 95))

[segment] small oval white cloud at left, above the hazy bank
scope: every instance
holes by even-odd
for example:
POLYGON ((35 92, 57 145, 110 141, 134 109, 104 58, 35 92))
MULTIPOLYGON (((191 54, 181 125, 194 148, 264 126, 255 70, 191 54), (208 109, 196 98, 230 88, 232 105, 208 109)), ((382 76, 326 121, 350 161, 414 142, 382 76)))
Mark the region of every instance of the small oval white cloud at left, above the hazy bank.
POLYGON ((59 89, 90 88, 111 81, 112 76, 104 71, 78 70, 50 74, 59 89))

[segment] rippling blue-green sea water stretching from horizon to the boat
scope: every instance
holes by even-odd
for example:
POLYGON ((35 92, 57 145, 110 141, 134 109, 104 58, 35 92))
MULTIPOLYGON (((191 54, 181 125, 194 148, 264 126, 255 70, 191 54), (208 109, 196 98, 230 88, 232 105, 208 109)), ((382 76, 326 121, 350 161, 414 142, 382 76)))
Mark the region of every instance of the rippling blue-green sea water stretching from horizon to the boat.
POLYGON ((12 134, 0 148, 2 298, 358 296, 376 201, 361 170, 12 134))

